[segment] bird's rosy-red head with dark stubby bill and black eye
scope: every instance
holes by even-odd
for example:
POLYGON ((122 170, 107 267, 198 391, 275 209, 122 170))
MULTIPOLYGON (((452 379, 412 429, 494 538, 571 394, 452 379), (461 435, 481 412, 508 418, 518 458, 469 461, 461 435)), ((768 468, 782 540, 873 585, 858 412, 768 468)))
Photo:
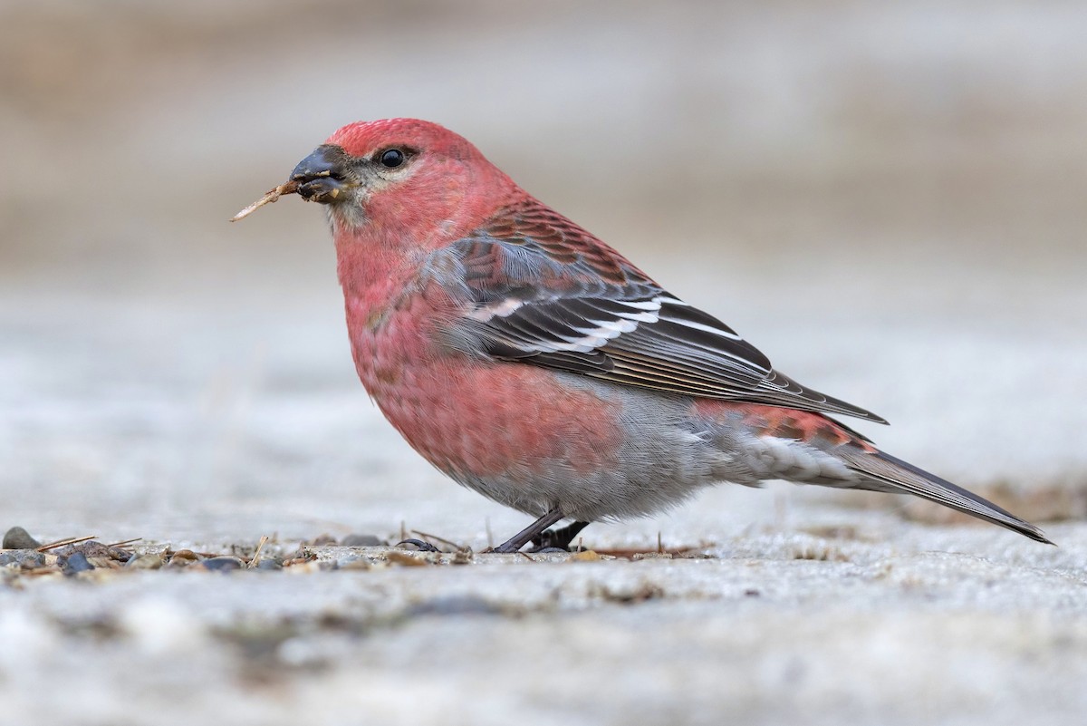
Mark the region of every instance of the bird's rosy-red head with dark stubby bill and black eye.
POLYGON ((348 124, 295 167, 334 234, 430 246, 473 228, 516 189, 466 139, 430 122, 348 124))

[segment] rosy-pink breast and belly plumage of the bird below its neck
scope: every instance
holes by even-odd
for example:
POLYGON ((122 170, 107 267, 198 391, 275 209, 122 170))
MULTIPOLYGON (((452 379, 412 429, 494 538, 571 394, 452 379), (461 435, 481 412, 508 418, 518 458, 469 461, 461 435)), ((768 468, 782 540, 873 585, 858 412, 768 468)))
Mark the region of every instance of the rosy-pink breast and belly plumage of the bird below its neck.
POLYGON ((425 296, 388 312, 348 304, 359 377, 389 422, 438 468, 477 477, 566 465, 584 474, 617 465, 620 404, 566 385, 553 372, 485 361, 439 342, 441 314, 425 296))

